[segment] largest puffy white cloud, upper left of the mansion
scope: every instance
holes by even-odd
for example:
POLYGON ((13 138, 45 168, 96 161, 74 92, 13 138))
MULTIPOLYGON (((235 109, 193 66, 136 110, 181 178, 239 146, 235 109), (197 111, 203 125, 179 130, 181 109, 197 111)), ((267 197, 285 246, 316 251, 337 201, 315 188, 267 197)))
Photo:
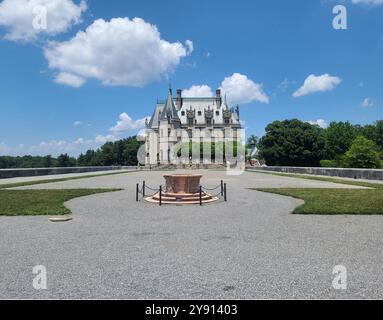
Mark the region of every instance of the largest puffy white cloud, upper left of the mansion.
POLYGON ((80 86, 88 79, 104 85, 142 87, 174 70, 192 49, 161 39, 156 26, 143 19, 99 19, 69 41, 45 48, 56 82, 80 86), (72 78, 69 77, 72 76, 72 78), (61 80, 61 81, 60 81, 61 80))

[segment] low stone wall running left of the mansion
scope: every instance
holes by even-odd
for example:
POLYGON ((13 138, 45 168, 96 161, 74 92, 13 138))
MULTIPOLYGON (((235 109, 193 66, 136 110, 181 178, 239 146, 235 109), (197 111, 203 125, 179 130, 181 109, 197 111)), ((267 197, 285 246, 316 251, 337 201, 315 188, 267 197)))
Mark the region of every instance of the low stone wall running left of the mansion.
POLYGON ((85 173, 112 170, 136 170, 137 167, 69 167, 69 168, 33 168, 33 169, 0 169, 0 179, 16 177, 47 176, 54 174, 85 173))

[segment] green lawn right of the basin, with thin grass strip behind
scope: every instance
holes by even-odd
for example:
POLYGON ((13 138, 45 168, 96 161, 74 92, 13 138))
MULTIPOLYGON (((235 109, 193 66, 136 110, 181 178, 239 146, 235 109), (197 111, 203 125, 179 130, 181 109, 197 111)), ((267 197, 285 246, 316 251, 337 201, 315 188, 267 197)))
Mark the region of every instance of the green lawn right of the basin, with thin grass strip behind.
MULTIPOLYGON (((258 171, 264 173, 262 171, 258 171)), ((311 179, 363 186, 372 189, 314 189, 314 188, 262 188, 257 191, 269 192, 304 200, 297 207, 295 214, 383 214, 383 184, 361 181, 342 180, 337 178, 316 177, 308 175, 278 174, 301 179, 311 179)))

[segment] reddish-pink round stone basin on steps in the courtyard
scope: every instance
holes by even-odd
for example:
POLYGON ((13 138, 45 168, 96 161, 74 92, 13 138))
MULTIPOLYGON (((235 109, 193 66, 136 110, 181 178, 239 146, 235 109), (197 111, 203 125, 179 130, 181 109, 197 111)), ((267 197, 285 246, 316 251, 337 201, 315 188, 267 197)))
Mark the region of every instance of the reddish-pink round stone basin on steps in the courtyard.
POLYGON ((166 193, 190 194, 199 192, 202 175, 170 174, 164 176, 166 193))

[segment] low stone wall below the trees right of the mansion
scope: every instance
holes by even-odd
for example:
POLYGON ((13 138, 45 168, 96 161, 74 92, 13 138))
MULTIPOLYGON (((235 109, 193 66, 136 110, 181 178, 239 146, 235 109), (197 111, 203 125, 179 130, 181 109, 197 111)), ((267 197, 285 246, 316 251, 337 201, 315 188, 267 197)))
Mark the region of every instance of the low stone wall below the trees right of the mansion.
POLYGON ((312 174, 320 176, 383 180, 383 170, 379 169, 346 169, 346 168, 304 168, 304 167, 251 167, 251 169, 283 173, 312 174))

